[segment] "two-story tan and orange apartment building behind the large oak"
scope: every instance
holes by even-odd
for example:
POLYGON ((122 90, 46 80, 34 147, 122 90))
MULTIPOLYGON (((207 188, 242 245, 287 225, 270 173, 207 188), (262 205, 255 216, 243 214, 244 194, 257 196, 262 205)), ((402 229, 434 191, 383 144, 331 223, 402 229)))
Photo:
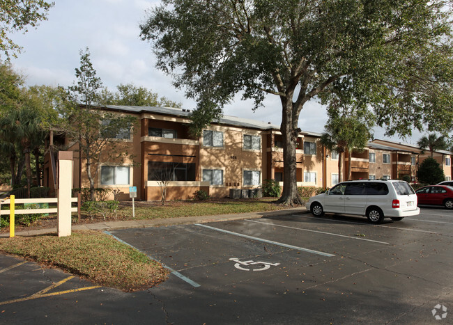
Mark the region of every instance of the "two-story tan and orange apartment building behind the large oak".
MULTIPOLYGON (((283 184, 283 138, 279 127, 269 123, 224 116, 201 132, 190 134, 187 109, 141 106, 102 106, 103 111, 137 118, 134 130, 118 130, 118 146, 132 159, 109 159, 106 148, 95 171, 95 187, 116 189, 128 199, 137 187, 137 199, 160 200, 160 184, 167 182, 168 200, 187 200, 195 191, 210 196, 229 196, 230 189, 254 189, 264 180, 283 184)), ((332 187, 339 182, 339 154, 321 145, 321 134, 300 132, 296 145, 298 187, 332 187)), ((43 183, 55 188, 56 152, 52 143, 74 151, 73 188, 89 187, 86 159, 79 159, 77 145, 64 135, 51 135, 45 158, 43 183)), ((436 152, 447 179, 452 175, 452 152, 436 152)), ((427 153, 424 154, 425 156, 427 153)), ((417 165, 424 157, 415 147, 374 140, 364 150, 344 153, 343 180, 397 179, 408 175, 415 181, 417 165), (351 157, 350 157, 351 156, 351 157)))

